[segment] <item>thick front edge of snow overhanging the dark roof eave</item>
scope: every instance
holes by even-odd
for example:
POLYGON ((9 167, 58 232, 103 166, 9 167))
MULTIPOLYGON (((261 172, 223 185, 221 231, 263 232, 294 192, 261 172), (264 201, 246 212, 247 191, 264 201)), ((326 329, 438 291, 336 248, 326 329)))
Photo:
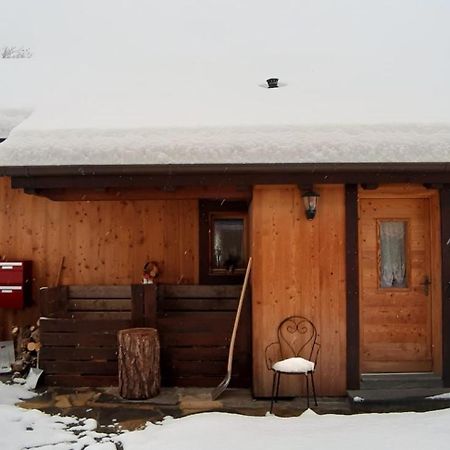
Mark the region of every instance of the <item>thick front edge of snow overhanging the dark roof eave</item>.
POLYGON ((4 166, 450 162, 450 126, 22 129, 1 145, 4 166))

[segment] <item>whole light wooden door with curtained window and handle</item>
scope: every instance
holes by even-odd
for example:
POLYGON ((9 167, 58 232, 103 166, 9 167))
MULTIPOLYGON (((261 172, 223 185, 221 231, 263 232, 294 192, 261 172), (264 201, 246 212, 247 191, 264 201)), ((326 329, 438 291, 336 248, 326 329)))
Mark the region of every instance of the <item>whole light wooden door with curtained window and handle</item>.
POLYGON ((360 199, 362 373, 433 369, 429 201, 360 199))

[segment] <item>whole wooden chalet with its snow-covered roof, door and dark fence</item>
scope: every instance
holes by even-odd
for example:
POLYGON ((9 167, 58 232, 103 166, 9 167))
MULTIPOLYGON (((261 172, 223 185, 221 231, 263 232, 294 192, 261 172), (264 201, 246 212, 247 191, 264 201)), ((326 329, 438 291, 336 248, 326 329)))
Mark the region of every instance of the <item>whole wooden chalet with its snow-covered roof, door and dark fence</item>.
MULTIPOLYGON (((373 54, 365 55, 364 33, 340 41, 343 29, 356 33, 361 21, 345 21, 358 11, 341 17, 340 6, 328 5, 342 21, 326 22, 332 38, 326 46, 317 38, 315 53, 308 38, 318 36, 319 16, 310 17, 315 7, 302 9, 304 2, 276 11, 255 2, 239 14, 224 2, 220 18, 205 4, 211 20, 203 22, 179 3, 176 17, 158 6, 169 8, 171 27, 159 10, 133 18, 142 26, 129 27, 130 36, 147 33, 130 41, 139 64, 133 48, 123 49, 120 70, 115 55, 103 72, 108 54, 89 59, 67 77, 72 85, 49 91, 47 107, 4 136, 0 255, 32 261, 33 282, 29 305, 0 307, 0 338, 45 317, 47 382, 108 385, 116 383, 117 330, 154 326, 163 385, 214 386, 226 372, 252 256, 235 386, 270 395, 265 349, 293 314, 308 317, 320 335, 318 395, 343 395, 367 373, 429 373, 450 386, 448 77, 429 82, 438 94, 425 101, 423 71, 410 68, 424 52, 427 74, 448 74, 436 56, 445 50, 421 44, 410 61, 396 41, 399 27, 390 38, 391 28, 370 28, 379 5, 362 21, 370 18, 383 51, 367 45, 373 54), (266 32, 273 23, 276 38, 266 32), (257 29, 251 36, 249 24, 257 29), (278 73, 279 87, 269 88, 265 80, 278 73), (308 197, 318 201, 307 213, 308 197), (157 285, 141 284, 147 261, 161 269, 157 285)), ((71 13, 66 25, 75 27, 81 17, 75 7, 71 13)), ((386 23, 394 19, 383 13, 386 23)), ((415 23, 405 19, 402 36, 415 36, 415 23)), ((120 33, 104 32, 120 54, 120 33)), ((297 392, 295 380, 283 383, 284 394, 297 392)))

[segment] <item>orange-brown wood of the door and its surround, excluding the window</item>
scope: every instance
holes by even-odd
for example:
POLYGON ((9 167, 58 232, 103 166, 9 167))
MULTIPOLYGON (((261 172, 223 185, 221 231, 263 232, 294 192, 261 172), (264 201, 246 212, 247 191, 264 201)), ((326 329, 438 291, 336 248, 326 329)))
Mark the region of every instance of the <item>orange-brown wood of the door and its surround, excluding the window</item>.
POLYGON ((432 325, 439 321, 435 311, 439 314, 441 304, 439 289, 434 288, 434 284, 440 283, 439 244, 435 236, 439 229, 437 194, 410 186, 392 190, 386 187, 376 195, 377 191, 370 194, 360 191, 361 369, 436 370, 439 373, 440 356, 436 355, 436 349, 440 352, 437 343, 440 325, 437 333, 432 325), (406 289, 378 286, 379 250, 375 231, 380 218, 408 223, 409 287, 406 289), (432 279, 431 296, 424 295, 421 285, 424 274, 432 279), (414 345, 405 347, 405 343, 414 345), (437 362, 437 369, 431 361, 432 349, 435 349, 433 360, 437 362), (403 369, 402 361, 407 361, 403 369))

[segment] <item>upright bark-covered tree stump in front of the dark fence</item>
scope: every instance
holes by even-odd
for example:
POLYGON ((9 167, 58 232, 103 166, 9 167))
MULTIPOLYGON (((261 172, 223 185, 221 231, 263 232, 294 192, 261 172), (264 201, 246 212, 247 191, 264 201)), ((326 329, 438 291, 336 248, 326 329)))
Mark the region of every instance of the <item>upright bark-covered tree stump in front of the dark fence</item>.
POLYGON ((118 332, 119 394, 143 400, 159 394, 159 338, 154 328, 129 328, 118 332))

